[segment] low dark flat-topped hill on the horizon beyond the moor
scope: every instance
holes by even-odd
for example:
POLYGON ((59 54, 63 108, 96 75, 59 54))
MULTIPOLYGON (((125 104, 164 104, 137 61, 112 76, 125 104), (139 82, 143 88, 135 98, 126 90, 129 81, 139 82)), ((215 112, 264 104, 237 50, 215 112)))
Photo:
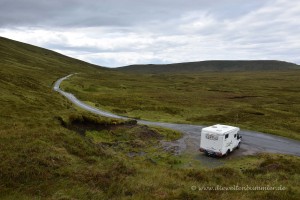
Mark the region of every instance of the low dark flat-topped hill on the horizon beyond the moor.
POLYGON ((116 70, 134 73, 167 73, 167 72, 199 72, 199 71, 265 71, 300 69, 290 62, 276 60, 234 61, 216 60, 165 65, 129 65, 116 70))

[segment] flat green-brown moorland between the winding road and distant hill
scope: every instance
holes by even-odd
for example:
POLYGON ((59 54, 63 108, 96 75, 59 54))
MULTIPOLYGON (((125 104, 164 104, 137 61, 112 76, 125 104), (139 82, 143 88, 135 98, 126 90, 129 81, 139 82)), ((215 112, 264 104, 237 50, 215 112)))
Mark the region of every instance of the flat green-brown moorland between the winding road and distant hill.
POLYGON ((154 121, 225 123, 300 139, 300 70, 78 74, 62 83, 79 99, 154 121))

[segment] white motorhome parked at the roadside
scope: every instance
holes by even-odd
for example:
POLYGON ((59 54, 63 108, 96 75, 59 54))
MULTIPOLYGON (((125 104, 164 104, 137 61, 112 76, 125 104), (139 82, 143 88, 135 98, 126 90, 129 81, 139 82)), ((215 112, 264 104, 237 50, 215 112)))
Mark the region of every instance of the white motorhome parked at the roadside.
POLYGON ((207 155, 228 155, 240 147, 242 136, 239 131, 238 127, 222 124, 203 128, 199 150, 207 155))

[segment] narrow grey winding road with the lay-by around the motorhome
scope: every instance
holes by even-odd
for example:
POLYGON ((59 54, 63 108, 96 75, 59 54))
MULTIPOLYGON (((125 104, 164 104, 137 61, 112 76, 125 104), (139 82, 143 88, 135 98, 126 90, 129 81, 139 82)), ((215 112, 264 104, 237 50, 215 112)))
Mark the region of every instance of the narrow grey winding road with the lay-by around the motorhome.
MULTIPOLYGON (((118 116, 109 112, 105 112, 98 108, 92 107, 88 104, 77 99, 73 94, 65 92, 60 89, 60 84, 65 79, 71 77, 73 74, 65 76, 57 80, 54 84, 54 90, 65 96, 76 106, 92 112, 97 115, 118 118, 118 119, 130 119, 127 117, 118 116)), ((190 124, 173 124, 173 123, 162 123, 162 122, 151 122, 145 120, 137 120, 139 124, 160 126, 170 128, 183 133, 183 137, 173 142, 162 142, 165 149, 170 149, 176 154, 189 153, 199 156, 199 142, 200 133, 203 126, 190 125, 190 124)), ((280 136, 270 135, 266 133, 260 133, 249 130, 241 130, 240 134, 243 136, 241 148, 234 151, 231 156, 240 155, 253 155, 259 152, 270 152, 270 153, 281 153, 300 156, 300 142, 280 136)), ((202 156, 204 157, 204 156, 202 156)), ((203 160, 199 157, 200 160, 203 160)))

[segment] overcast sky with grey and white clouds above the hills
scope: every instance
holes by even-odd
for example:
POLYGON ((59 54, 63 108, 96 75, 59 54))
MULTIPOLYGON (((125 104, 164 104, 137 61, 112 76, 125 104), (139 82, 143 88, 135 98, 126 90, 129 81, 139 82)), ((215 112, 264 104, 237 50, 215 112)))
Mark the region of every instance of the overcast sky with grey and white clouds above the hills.
POLYGON ((0 36, 94 64, 300 64, 300 0, 0 0, 0 36))

